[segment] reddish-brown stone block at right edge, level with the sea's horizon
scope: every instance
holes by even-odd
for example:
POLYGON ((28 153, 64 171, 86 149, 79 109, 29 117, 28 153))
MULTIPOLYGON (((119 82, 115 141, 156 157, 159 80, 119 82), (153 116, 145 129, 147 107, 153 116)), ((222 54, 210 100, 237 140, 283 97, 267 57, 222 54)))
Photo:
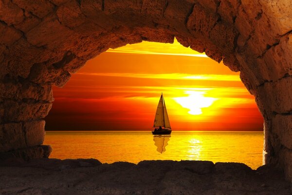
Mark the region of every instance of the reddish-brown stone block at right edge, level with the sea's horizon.
POLYGON ((292 114, 276 115, 273 118, 273 132, 286 148, 292 150, 292 114))

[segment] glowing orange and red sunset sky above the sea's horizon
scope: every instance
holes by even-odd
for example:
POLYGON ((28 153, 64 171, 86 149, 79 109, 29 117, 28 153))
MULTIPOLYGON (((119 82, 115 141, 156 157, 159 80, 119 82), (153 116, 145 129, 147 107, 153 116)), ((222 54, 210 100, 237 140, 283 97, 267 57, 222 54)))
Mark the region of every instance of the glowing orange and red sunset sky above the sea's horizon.
POLYGON ((150 131, 161 92, 174 131, 263 128, 239 73, 177 41, 144 41, 108 50, 54 87, 46 130, 150 131))

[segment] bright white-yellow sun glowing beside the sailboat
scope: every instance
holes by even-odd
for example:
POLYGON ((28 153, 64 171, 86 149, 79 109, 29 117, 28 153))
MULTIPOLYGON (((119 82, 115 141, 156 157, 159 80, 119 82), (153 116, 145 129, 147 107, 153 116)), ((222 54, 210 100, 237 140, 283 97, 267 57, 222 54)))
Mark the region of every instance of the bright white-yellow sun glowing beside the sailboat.
POLYGON ((185 91, 187 97, 173 98, 183 108, 189 109, 190 115, 201 115, 201 108, 207 108, 213 104, 217 98, 205 97, 205 91, 185 91))

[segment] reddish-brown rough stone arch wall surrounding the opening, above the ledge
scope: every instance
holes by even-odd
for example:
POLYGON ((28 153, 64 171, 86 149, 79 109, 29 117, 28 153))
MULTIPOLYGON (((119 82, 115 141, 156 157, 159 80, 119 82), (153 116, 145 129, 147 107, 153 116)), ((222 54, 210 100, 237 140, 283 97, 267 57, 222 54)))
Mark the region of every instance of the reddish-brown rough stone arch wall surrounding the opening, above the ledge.
POLYGON ((52 85, 142 40, 223 60, 265 123, 264 162, 292 178, 291 0, 0 0, 0 152, 42 144, 52 85))

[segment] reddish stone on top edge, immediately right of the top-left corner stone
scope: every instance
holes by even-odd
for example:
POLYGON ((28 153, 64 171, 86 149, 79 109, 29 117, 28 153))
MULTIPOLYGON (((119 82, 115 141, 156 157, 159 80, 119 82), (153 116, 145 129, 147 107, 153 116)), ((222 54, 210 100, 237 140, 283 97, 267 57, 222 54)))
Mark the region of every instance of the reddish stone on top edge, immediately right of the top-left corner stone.
POLYGON ((32 12, 38 18, 44 18, 54 11, 54 5, 48 0, 12 0, 18 7, 32 12))

